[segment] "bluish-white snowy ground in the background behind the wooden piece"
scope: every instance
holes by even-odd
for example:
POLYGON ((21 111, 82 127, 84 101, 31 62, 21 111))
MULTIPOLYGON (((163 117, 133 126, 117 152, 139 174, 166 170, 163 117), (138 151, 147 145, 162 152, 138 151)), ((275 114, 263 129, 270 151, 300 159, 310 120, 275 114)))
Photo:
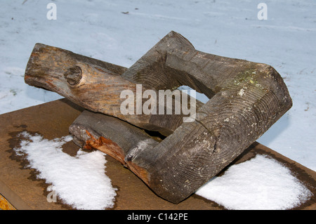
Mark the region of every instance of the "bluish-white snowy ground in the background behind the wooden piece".
POLYGON ((316 171, 315 0, 2 0, 0 30, 0 114, 60 98, 24 84, 37 42, 130 67, 174 30, 199 51, 272 65, 294 106, 258 142, 316 171))

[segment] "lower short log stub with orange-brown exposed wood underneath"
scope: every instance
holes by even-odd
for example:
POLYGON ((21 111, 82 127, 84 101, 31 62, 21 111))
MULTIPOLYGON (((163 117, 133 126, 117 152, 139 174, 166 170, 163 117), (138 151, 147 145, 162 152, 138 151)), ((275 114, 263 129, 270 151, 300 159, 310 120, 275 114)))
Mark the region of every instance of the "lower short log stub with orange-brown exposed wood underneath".
POLYGON ((69 131, 74 143, 110 155, 151 187, 147 171, 131 162, 131 159, 142 150, 154 148, 161 139, 154 139, 142 129, 120 119, 88 110, 77 117, 69 131))

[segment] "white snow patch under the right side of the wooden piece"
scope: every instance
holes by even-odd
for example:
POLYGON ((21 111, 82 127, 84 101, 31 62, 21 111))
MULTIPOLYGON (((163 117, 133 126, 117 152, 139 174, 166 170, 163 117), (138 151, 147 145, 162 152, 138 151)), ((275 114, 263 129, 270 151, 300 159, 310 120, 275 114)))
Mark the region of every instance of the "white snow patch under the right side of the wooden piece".
POLYGON ((312 196, 287 167, 265 155, 230 166, 196 194, 233 210, 291 209, 312 196))

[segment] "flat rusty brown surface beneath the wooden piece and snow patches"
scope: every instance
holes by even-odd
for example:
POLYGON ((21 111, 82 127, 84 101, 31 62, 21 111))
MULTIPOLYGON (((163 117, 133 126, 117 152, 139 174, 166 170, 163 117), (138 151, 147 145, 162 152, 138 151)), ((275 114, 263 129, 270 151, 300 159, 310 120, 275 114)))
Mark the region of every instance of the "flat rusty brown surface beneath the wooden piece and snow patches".
MULTIPOLYGON (((15 157, 13 148, 18 147, 18 133, 28 131, 39 133, 44 138, 54 139, 69 135, 68 128, 83 111, 83 108, 62 99, 45 103, 23 110, 0 115, 0 194, 14 206, 15 209, 72 209, 61 202, 47 202, 48 184, 36 178, 36 172, 25 169, 25 161, 15 157)), ((79 147, 67 143, 64 152, 76 154, 79 147)), ((232 164, 244 162, 256 154, 268 154, 282 162, 296 173, 299 180, 308 187, 314 195, 316 172, 293 160, 282 156, 268 147, 254 143, 245 150, 232 164)), ((224 209, 197 195, 185 199, 180 204, 172 204, 157 197, 137 176, 124 169, 119 162, 107 157, 107 176, 112 185, 118 188, 115 206, 117 210, 214 210, 224 209)), ((295 209, 316 209, 315 196, 295 209)))

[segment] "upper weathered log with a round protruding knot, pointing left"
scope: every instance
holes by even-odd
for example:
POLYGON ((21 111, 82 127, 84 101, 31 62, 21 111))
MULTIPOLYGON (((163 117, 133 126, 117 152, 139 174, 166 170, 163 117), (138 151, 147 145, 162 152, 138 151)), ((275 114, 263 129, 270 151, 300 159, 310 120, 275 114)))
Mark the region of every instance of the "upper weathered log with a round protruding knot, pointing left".
MULTIPOLYGON (((142 83, 122 77, 121 74, 126 70, 124 67, 71 51, 36 44, 27 63, 25 82, 31 86, 59 93, 93 112, 117 117, 143 129, 159 131, 165 136, 173 133, 182 124, 185 115, 166 113, 167 107, 175 108, 177 99, 172 101, 172 105, 162 106, 157 100, 157 108, 164 107, 162 109, 164 114, 136 114, 136 107, 133 109, 134 114, 121 113, 121 105, 126 100, 126 98, 121 98, 123 91, 131 91, 135 98, 140 95, 140 107, 146 101, 141 97, 146 90, 150 89, 155 95, 159 95, 157 86, 154 85, 141 86, 138 91, 136 84, 142 83)), ((172 93, 166 94, 165 97, 172 97, 172 93)), ((196 111, 196 105, 197 107, 203 105, 185 93, 183 93, 183 98, 187 98, 188 107, 192 107, 190 108, 192 111, 196 111), (190 105, 192 101, 195 101, 195 105, 190 105)))

